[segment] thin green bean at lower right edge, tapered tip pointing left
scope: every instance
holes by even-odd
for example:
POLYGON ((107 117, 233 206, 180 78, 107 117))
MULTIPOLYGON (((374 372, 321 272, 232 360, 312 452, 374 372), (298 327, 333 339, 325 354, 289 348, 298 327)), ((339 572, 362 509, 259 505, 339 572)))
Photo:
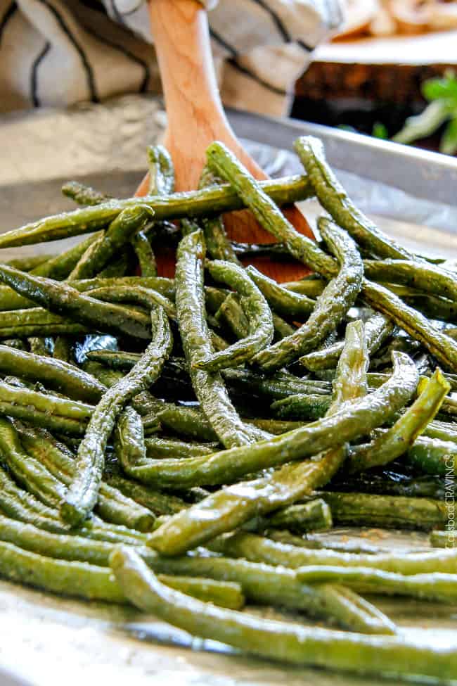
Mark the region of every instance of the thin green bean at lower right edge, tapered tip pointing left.
POLYGON ((457 602, 455 574, 404 576, 369 567, 309 566, 297 569, 304 583, 342 583, 352 590, 377 595, 406 595, 438 602, 457 602))

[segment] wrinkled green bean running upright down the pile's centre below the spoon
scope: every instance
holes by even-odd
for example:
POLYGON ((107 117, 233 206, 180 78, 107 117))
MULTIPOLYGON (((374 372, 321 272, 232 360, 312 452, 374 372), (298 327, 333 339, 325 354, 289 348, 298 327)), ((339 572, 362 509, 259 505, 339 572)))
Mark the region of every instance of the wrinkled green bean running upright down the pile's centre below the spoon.
POLYGON ((179 331, 190 368, 191 381, 203 412, 226 447, 252 441, 233 407, 220 374, 198 369, 198 364, 213 354, 205 321, 203 263, 205 243, 201 231, 184 236, 178 247, 176 263, 176 310, 179 331))

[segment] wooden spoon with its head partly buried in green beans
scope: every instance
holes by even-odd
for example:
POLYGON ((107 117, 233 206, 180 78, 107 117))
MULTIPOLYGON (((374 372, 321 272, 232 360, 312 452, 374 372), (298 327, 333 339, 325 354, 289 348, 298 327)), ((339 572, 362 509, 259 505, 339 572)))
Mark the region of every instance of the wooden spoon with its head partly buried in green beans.
MULTIPOLYGON (((198 187, 206 148, 214 140, 226 144, 256 179, 268 178, 247 154, 226 119, 214 72, 205 10, 195 0, 151 0, 149 9, 167 109, 164 144, 172 155, 176 191, 198 187)), ((136 194, 145 195, 147 190, 148 177, 143 179, 136 194)), ((295 206, 287 208, 285 215, 297 231, 313 235, 295 206)), ((247 210, 228 213, 224 223, 234 241, 274 241, 247 210)), ((172 276, 173 260, 165 255, 158 258, 159 273, 172 276)), ((257 266, 277 281, 300 279, 309 273, 304 265, 293 262, 259 260, 257 266)))

